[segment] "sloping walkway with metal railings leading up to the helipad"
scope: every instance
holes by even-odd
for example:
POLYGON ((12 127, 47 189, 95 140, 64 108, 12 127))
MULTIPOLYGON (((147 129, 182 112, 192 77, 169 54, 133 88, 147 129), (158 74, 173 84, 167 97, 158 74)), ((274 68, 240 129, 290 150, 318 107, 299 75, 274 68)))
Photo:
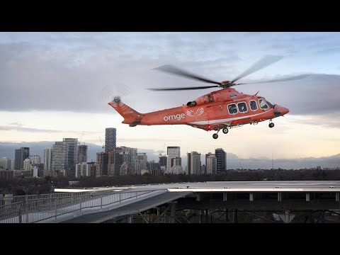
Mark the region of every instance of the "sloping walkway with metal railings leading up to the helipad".
POLYGON ((153 191, 96 191, 12 197, 12 203, 0 206, 0 223, 34 223, 52 217, 57 219, 60 215, 89 208, 107 208, 151 192, 153 191))

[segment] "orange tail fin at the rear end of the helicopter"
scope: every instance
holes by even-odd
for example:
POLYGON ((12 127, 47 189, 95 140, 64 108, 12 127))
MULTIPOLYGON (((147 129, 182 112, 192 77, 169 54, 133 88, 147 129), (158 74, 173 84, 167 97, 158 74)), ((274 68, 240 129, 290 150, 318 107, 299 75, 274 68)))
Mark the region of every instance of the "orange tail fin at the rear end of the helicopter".
POLYGON ((130 127, 135 127, 135 125, 140 123, 140 120, 142 120, 142 114, 125 105, 125 103, 122 103, 119 96, 115 96, 113 101, 108 104, 123 116, 124 120, 122 123, 129 124, 130 127))

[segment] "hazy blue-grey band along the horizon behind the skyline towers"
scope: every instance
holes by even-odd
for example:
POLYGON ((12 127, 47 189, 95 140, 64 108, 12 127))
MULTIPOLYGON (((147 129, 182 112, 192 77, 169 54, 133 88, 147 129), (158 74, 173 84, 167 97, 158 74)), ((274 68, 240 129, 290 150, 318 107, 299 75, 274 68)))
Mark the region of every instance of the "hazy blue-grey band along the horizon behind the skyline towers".
MULTIPOLYGON (((44 159, 44 149, 46 147, 52 147, 55 142, 0 142, 0 158, 9 157, 14 159, 15 149, 20 147, 30 147, 30 154, 37 154, 44 159)), ((102 148, 99 145, 86 143, 88 146, 87 161, 96 162, 96 153, 101 152, 102 148)), ((138 149, 138 152, 147 152, 148 161, 158 161, 157 153, 152 153, 150 149, 138 149)), ((186 154, 182 155, 182 166, 186 167, 186 154)), ((205 164, 205 155, 201 155, 201 162, 205 164)), ((272 165, 274 169, 305 169, 321 166, 322 168, 335 168, 340 167, 340 154, 336 154, 330 157, 306 157, 299 159, 268 159, 266 157, 241 159, 237 155, 227 152, 227 169, 271 169, 272 165)))

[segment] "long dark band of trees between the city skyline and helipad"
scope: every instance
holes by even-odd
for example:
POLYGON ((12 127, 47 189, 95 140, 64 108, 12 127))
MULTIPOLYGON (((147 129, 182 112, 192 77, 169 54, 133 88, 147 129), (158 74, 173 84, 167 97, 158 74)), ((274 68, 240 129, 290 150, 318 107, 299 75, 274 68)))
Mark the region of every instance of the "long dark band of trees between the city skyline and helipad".
POLYGON ((0 194, 12 193, 13 196, 51 193, 52 188, 69 188, 69 181, 77 181, 72 187, 105 187, 152 183, 183 183, 203 181, 336 181, 340 180, 340 170, 228 170, 221 175, 164 174, 162 176, 100 176, 17 178, 0 181, 0 194))

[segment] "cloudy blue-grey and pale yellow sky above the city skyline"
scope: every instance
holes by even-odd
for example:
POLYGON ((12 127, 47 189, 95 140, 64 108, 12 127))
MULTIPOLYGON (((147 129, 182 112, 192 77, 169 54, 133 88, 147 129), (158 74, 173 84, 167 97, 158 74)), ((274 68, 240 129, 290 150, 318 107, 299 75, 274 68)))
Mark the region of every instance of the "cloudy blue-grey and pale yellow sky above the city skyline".
POLYGON ((117 145, 154 150, 180 146, 181 154, 222 147, 252 157, 328 157, 339 154, 340 33, 0 33, 0 142, 60 141, 77 137, 101 145, 117 128, 117 145), (209 79, 232 80, 265 55, 283 59, 239 80, 312 74, 297 81, 234 87, 285 106, 290 113, 227 135, 186 125, 137 126, 121 122, 108 101, 141 113, 181 106, 214 89, 148 91, 200 86, 157 72, 174 64, 209 79))

